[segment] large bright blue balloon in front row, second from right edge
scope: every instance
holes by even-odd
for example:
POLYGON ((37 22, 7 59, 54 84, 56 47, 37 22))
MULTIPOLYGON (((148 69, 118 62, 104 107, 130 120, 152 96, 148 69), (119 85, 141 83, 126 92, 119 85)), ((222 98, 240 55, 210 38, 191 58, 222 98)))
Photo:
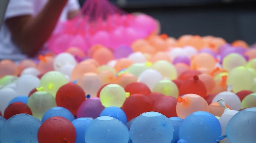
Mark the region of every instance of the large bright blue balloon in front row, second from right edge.
POLYGON ((180 125, 179 137, 188 143, 216 143, 215 139, 220 135, 219 120, 205 111, 188 115, 180 125))

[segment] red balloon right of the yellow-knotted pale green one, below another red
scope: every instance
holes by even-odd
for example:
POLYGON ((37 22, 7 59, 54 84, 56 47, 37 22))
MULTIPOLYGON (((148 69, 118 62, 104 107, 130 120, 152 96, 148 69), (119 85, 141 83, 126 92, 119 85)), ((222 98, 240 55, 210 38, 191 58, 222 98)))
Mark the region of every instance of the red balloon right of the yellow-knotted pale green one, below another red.
POLYGON ((152 101, 143 94, 133 94, 124 101, 122 109, 127 121, 130 121, 144 112, 152 111, 152 101))

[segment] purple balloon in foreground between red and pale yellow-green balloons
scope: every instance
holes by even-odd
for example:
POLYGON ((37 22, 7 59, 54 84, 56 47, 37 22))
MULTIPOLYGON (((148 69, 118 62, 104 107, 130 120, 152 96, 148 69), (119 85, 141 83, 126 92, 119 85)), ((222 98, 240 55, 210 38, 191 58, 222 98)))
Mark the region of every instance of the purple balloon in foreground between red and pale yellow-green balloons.
POLYGON ((97 118, 105 107, 102 106, 100 98, 92 97, 85 100, 77 111, 77 118, 97 118))

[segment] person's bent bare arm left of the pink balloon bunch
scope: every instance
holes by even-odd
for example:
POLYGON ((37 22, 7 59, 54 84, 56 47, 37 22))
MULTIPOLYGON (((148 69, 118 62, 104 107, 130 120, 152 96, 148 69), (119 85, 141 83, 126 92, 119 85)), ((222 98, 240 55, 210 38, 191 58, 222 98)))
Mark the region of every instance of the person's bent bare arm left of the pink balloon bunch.
POLYGON ((49 0, 35 16, 18 16, 7 19, 6 25, 21 51, 34 56, 50 37, 68 0, 49 0))

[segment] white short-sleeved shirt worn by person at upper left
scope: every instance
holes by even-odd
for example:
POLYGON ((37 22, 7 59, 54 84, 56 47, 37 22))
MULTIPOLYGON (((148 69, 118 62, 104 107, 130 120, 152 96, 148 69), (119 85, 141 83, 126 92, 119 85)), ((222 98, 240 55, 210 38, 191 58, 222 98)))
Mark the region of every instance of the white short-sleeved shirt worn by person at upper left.
MULTIPOLYGON (((42 10, 48 0, 10 0, 5 16, 4 22, 0 29, 0 60, 10 59, 13 61, 20 61, 28 58, 22 54, 20 49, 12 41, 12 34, 5 24, 5 20, 12 17, 32 15, 35 16, 42 10)), ((59 21, 67 20, 69 11, 79 9, 77 0, 68 0, 68 4, 63 9, 59 21)))

